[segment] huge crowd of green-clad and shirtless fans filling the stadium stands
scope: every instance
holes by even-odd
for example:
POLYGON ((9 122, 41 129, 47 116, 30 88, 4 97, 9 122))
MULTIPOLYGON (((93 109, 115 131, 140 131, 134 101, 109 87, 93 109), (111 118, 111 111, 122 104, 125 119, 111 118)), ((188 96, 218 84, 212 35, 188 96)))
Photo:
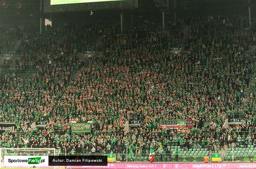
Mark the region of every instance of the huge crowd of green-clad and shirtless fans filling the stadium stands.
POLYGON ((54 147, 70 154, 121 154, 129 146, 133 153, 148 154, 169 151, 168 145, 216 151, 216 139, 221 144, 251 140, 235 132, 255 133, 255 93, 246 106, 241 104, 254 73, 255 57, 248 49, 255 33, 235 27, 237 23, 239 19, 189 18, 179 23, 189 27, 188 36, 178 38, 171 30, 144 30, 140 37, 138 31, 117 35, 115 29, 83 25, 77 31, 67 24, 23 38, 19 65, 29 63, 38 70, 31 78, 3 75, 0 121, 17 122, 17 129, 3 131, 0 146, 54 147), (103 57, 79 59, 77 44, 93 45, 101 35, 103 57), (173 41, 183 48, 166 55, 173 41), (233 112, 246 113, 245 122, 225 129, 233 112), (29 127, 42 117, 47 120, 44 129, 29 127), (134 118, 142 124, 126 130, 126 120, 134 118), (160 127, 160 120, 173 119, 192 119, 194 127, 160 127), (92 132, 72 134, 73 121, 91 121, 92 132))

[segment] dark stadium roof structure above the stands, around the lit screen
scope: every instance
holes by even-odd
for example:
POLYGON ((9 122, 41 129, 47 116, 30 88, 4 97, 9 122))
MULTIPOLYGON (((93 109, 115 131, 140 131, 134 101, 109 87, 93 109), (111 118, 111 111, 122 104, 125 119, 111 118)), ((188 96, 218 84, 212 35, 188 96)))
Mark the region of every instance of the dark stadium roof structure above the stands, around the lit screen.
MULTIPOLYGON (((255 7, 256 0, 251 0, 252 17, 256 15, 255 7)), ((48 14, 90 10, 112 10, 117 12, 122 10, 126 14, 133 14, 134 16, 145 15, 145 18, 148 18, 147 20, 154 17, 158 18, 159 10, 165 11, 168 19, 173 17, 170 15, 175 12, 177 18, 211 13, 220 15, 242 13, 246 15, 248 14, 248 0, 124 0, 52 6, 50 6, 50 0, 0 0, 0 17, 49 18, 51 16, 48 14), (44 9, 39 12, 41 1, 44 9)))

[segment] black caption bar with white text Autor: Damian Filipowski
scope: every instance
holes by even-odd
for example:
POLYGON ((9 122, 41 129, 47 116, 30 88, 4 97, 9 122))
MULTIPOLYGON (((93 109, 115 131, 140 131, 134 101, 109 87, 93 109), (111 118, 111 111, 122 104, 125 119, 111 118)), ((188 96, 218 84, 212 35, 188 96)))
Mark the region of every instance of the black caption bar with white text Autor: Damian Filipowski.
POLYGON ((107 166, 107 156, 49 156, 49 166, 107 166))

